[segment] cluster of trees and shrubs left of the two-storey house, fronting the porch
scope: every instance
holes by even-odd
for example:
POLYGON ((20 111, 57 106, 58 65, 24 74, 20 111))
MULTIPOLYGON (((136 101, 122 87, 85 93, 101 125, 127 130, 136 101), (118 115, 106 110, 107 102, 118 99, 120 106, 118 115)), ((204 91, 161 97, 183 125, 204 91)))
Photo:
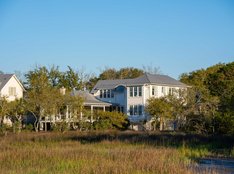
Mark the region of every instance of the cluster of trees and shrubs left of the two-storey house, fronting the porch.
MULTIPOLYGON (((133 68, 126 68, 134 71, 133 68)), ((108 71, 108 70, 106 70, 108 71)), ((105 72, 104 72, 105 73, 105 72)), ((72 90, 83 89, 88 81, 83 72, 77 72, 68 66, 62 72, 58 67, 35 67, 25 74, 26 81, 24 98, 7 102, 6 98, 0 100, 0 132, 8 128, 3 124, 8 118, 13 123, 13 131, 19 132, 25 115, 34 117, 33 129, 40 129, 40 122, 50 122, 54 130, 66 129, 124 129, 127 126, 126 116, 118 112, 91 113, 83 107, 84 99, 71 95, 72 90), (65 91, 64 91, 65 90, 65 91), (85 113, 85 117, 81 115, 85 113), (101 115, 101 116, 100 116, 101 115), (95 122, 92 122, 92 118, 95 122), (59 119, 59 123, 54 120, 59 119), (97 119, 98 118, 98 119, 97 119), (87 122, 87 120, 90 120, 87 122), (104 124, 105 123, 105 124, 104 124)), ((46 128, 44 128, 46 129, 46 128)))

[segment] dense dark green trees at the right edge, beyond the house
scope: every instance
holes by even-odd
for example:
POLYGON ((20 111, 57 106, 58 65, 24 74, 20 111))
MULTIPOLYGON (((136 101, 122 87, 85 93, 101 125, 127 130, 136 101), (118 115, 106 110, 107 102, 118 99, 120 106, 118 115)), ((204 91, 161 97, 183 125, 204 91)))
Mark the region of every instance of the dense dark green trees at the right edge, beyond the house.
MULTIPOLYGON (((182 74, 196 97, 199 126, 212 133, 234 134, 234 62, 182 74)), ((194 124, 193 124, 194 126, 194 124)))

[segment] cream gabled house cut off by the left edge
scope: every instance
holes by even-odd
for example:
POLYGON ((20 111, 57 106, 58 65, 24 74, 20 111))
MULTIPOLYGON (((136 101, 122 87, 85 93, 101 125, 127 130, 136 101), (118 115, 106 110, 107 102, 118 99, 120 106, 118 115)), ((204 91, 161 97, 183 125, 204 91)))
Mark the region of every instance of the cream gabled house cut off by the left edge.
POLYGON ((24 87, 14 74, 0 74, 0 99, 7 101, 23 98, 24 87))

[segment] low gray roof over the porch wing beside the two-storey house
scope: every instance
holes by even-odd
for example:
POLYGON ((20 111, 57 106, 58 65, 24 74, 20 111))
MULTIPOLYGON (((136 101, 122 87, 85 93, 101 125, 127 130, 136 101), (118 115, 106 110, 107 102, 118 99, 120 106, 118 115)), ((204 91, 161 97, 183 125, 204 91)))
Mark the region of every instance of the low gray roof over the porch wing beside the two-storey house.
POLYGON ((96 99, 88 91, 72 91, 72 95, 80 96, 84 98, 84 105, 101 105, 101 106, 110 106, 110 103, 100 101, 96 99))

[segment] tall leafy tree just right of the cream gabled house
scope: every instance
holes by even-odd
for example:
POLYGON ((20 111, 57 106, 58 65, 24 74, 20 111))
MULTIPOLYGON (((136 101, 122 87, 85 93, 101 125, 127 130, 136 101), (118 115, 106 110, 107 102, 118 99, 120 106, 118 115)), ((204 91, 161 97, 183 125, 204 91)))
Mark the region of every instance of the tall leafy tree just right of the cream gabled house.
POLYGON ((27 110, 35 117, 34 127, 39 130, 39 122, 42 117, 51 114, 55 109, 57 97, 61 94, 58 89, 53 88, 49 82, 46 67, 36 67, 26 74, 28 92, 26 94, 27 110))

